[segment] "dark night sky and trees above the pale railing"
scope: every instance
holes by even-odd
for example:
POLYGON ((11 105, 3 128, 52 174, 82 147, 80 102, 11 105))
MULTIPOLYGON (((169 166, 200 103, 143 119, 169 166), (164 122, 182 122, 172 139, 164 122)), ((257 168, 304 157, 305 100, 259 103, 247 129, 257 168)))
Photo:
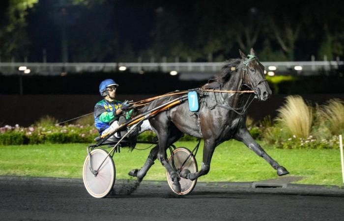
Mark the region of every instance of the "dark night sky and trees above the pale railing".
POLYGON ((1 60, 262 61, 344 54, 341 0, 2 0, 1 60))

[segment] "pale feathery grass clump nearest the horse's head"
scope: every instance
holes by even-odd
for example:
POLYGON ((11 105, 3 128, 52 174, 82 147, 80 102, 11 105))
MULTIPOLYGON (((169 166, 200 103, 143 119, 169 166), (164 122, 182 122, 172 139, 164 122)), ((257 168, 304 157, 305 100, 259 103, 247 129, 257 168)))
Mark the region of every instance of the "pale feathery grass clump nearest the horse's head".
POLYGON ((301 96, 287 96, 286 104, 279 110, 277 121, 286 127, 289 135, 307 138, 312 126, 312 108, 307 106, 301 96))

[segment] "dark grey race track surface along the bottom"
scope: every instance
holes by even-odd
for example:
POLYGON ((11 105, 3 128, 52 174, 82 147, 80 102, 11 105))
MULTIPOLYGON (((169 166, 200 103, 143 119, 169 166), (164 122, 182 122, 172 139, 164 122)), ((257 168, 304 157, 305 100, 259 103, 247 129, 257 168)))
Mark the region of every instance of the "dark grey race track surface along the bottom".
POLYGON ((343 220, 344 194, 197 185, 177 196, 166 182, 116 181, 91 197, 82 181, 0 180, 0 220, 343 220))

